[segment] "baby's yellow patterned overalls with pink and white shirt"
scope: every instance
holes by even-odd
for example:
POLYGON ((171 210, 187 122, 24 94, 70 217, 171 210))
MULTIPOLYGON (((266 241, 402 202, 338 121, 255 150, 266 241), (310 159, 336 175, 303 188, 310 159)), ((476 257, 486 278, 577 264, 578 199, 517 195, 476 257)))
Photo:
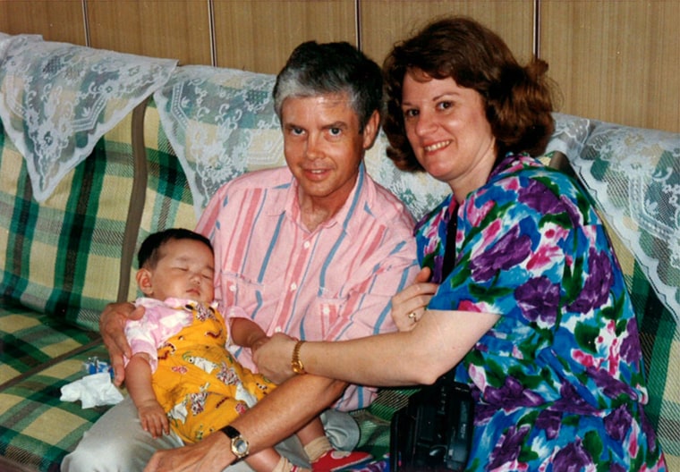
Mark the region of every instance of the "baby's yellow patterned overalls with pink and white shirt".
POLYGON ((185 443, 228 425, 275 388, 226 350, 228 331, 216 304, 183 299, 138 299, 137 304, 146 308, 145 315, 129 322, 125 333, 133 353, 150 355, 150 343, 155 344, 153 389, 185 443))

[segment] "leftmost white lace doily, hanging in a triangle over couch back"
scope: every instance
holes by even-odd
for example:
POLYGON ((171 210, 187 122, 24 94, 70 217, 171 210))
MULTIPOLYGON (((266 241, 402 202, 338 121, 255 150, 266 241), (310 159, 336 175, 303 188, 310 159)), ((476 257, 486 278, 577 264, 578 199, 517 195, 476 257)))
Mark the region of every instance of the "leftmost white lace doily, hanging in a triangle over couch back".
POLYGON ((33 194, 47 198, 99 138, 161 87, 176 61, 42 41, 4 40, 0 118, 26 158, 33 194))

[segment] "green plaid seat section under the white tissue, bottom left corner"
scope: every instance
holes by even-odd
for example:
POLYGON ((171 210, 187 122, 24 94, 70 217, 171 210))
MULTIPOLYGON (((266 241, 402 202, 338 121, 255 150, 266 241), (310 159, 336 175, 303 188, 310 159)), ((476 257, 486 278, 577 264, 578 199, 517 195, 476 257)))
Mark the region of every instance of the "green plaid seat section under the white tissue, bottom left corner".
POLYGON ((64 456, 107 409, 59 400, 61 387, 85 375, 82 363, 92 356, 106 358, 106 350, 86 350, 0 391, 2 456, 38 471, 59 470, 64 456))

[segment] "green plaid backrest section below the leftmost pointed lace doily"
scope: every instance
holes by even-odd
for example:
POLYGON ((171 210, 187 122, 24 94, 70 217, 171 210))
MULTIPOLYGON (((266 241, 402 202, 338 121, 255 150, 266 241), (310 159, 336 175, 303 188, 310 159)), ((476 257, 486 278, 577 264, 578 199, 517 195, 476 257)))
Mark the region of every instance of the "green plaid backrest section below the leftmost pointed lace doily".
POLYGON ((115 299, 132 190, 130 116, 45 202, 0 132, 0 297, 95 330, 115 299))

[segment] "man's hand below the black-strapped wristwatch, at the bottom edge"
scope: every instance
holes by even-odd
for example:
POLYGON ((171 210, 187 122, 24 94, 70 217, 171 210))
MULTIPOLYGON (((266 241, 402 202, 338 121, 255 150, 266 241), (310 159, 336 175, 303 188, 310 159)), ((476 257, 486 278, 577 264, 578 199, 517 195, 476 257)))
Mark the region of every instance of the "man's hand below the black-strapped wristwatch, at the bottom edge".
POLYGON ((144 472, 221 472, 234 459, 229 440, 216 431, 198 443, 156 451, 144 472))

